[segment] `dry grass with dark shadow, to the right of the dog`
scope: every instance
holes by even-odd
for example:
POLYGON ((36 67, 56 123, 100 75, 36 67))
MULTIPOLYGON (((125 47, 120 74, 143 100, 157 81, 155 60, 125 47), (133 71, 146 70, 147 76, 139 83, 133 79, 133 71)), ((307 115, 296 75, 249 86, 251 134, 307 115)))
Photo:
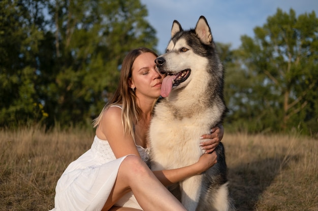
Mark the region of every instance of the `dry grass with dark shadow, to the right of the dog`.
POLYGON ((318 210, 318 141, 297 136, 225 134, 238 210, 318 210))

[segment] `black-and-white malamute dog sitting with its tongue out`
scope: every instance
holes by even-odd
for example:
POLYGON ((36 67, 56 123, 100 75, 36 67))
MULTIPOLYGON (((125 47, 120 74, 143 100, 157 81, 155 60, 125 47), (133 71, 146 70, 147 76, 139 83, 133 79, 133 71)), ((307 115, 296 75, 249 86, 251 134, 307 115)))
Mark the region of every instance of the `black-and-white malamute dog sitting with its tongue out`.
MULTIPOLYGON (((167 53, 155 60, 158 71, 167 76, 161 88, 164 98, 156 104, 150 123, 152 170, 197 162, 204 153, 200 136, 224 119, 224 69, 215 48, 205 17, 195 29, 185 31, 173 22, 167 53)), ((215 150, 217 163, 208 171, 169 187, 189 211, 234 210, 222 143, 215 150)))

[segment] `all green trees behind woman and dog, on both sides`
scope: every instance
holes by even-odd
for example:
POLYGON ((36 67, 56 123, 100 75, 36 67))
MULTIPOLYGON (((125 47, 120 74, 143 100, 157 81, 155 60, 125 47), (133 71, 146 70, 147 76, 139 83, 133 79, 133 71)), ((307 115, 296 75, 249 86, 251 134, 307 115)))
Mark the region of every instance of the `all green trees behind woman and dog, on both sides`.
MULTIPOLYGON (((125 54, 155 50, 140 1, 0 2, 0 127, 89 125, 114 92, 125 54)), ((277 9, 226 66, 229 131, 318 134, 318 19, 277 9)), ((216 40, 217 41, 217 40, 216 40)))

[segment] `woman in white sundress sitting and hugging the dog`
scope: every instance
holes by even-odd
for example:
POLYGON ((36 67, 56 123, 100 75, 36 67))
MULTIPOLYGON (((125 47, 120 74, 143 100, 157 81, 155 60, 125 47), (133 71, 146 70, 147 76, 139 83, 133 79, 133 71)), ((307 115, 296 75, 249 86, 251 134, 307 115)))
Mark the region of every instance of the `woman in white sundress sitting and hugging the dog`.
MULTIPOLYGON (((155 70, 156 57, 140 48, 124 58, 117 91, 94 120, 92 146, 58 180, 52 210, 186 210, 165 186, 206 171, 216 154, 175 170, 151 172, 147 166, 146 134, 164 77, 155 70)), ((201 137, 209 139, 202 146, 206 152, 223 135, 222 128, 213 130, 201 137)))

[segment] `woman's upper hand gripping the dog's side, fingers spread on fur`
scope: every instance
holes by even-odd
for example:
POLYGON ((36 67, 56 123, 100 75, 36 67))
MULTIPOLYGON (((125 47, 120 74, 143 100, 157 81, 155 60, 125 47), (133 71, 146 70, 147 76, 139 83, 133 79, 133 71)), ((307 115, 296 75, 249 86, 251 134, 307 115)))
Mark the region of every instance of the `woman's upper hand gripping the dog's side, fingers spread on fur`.
POLYGON ((211 134, 206 134, 200 137, 200 139, 209 139, 200 143, 202 149, 205 149, 205 153, 213 152, 218 143, 222 140, 224 135, 223 125, 216 125, 211 129, 211 134))

